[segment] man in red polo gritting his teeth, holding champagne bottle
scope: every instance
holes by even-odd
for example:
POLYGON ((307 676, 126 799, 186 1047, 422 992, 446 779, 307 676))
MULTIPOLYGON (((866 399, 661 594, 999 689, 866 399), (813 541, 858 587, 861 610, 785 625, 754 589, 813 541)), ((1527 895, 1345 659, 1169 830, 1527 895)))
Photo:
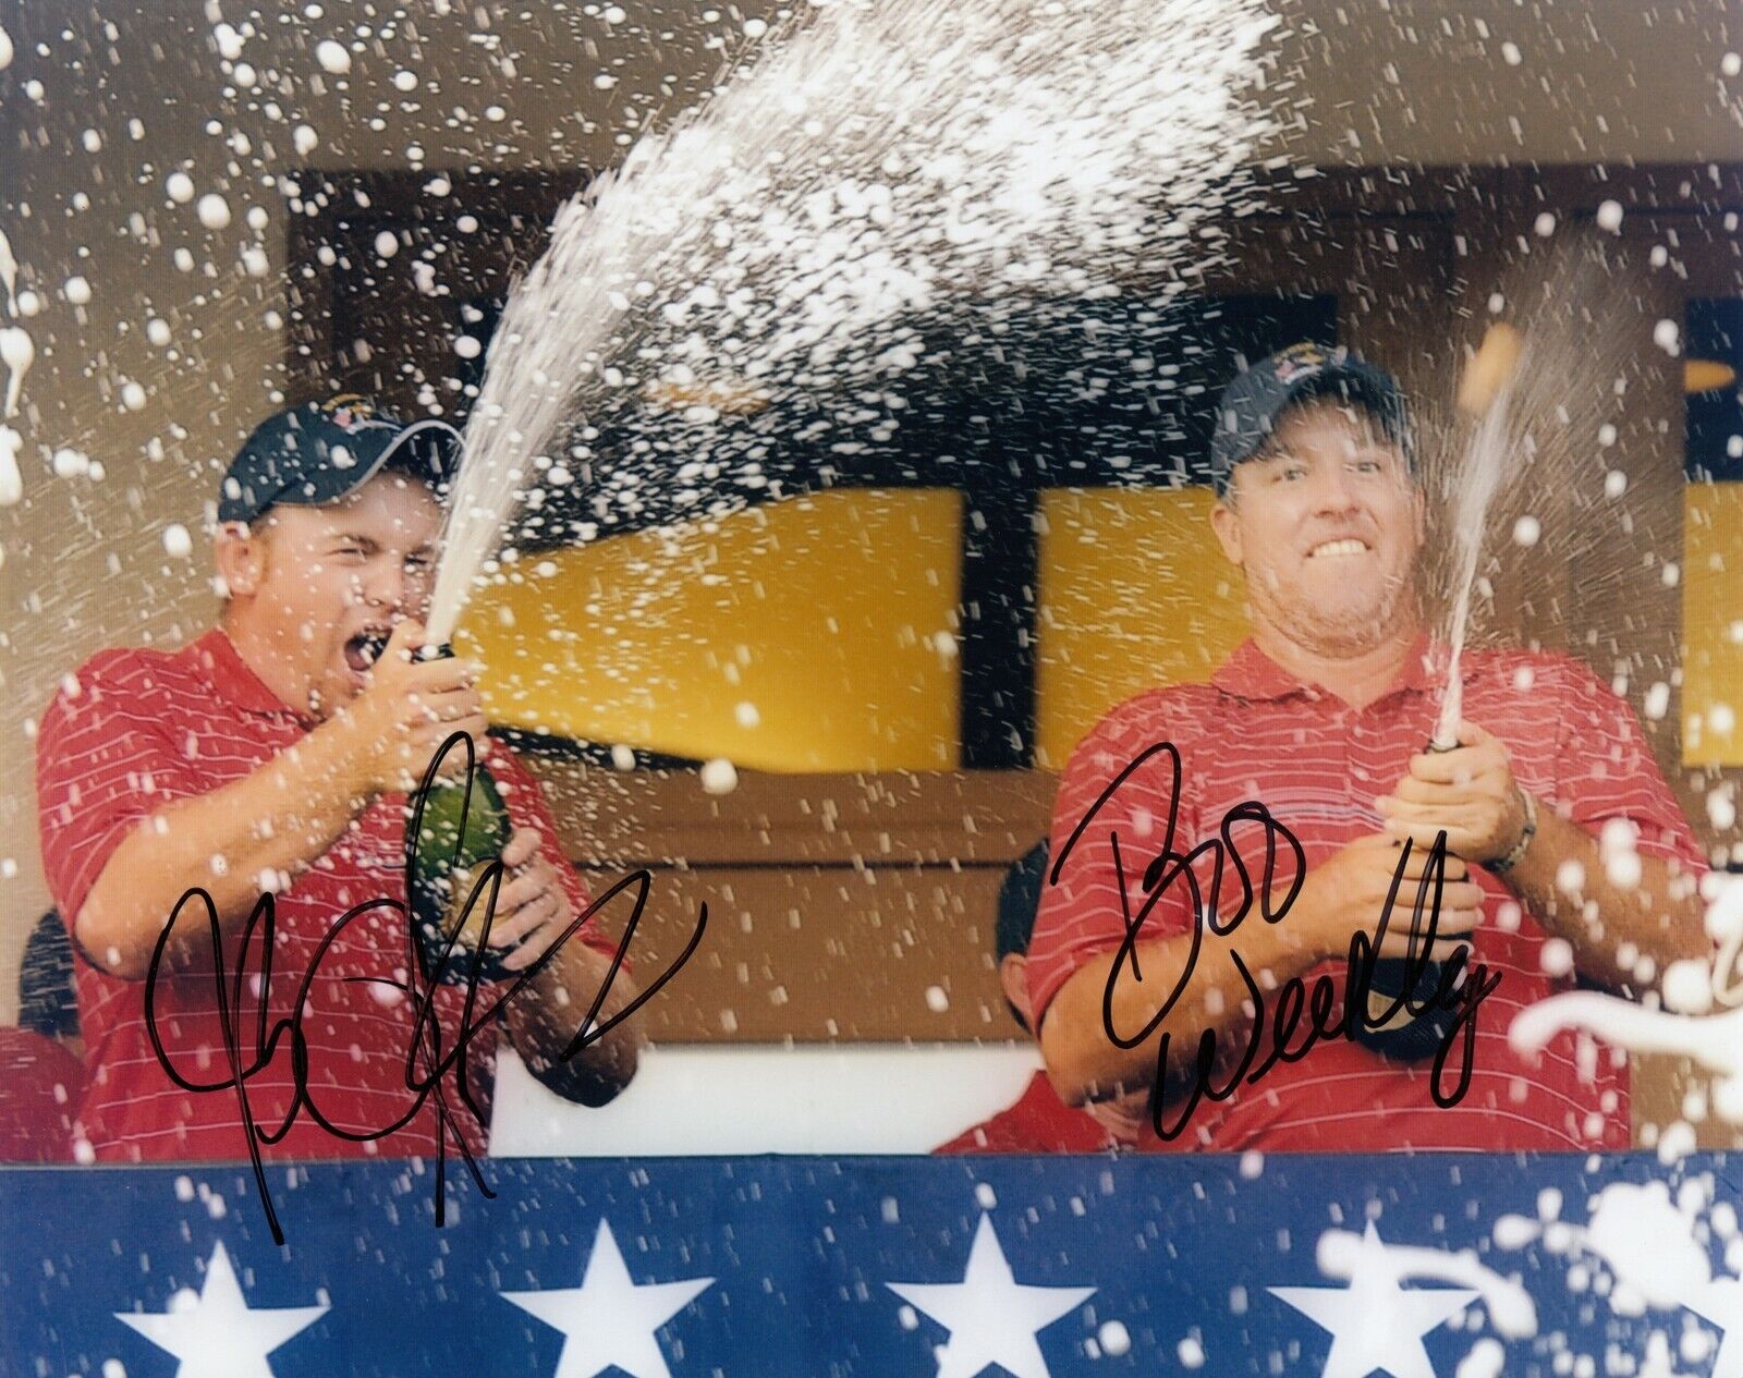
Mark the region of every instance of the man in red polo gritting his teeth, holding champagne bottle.
POLYGON ((1523 1059, 1506 1028, 1576 977, 1638 993, 1672 962, 1710 956, 1705 862, 1628 706, 1569 657, 1468 652, 1459 746, 1424 749, 1448 655, 1422 625, 1426 498, 1401 394, 1382 371, 1309 345, 1265 359, 1224 392, 1211 458, 1211 521, 1246 575, 1253 634, 1208 685, 1121 704, 1065 770, 1028 958, 1060 1094, 1161 1085, 1150 1148, 1626 1148, 1626 1059, 1574 1035, 1523 1059), (1178 777, 1159 744, 1178 751, 1178 777), (1269 887, 1260 826, 1222 833, 1246 801, 1300 845, 1299 868, 1271 834, 1269 887), (1441 1089, 1459 1092, 1466 1044, 1471 1068, 1447 1108, 1429 1063, 1342 1033, 1314 1042, 1316 1028, 1342 1028, 1351 937, 1373 939, 1394 878, 1377 951, 1410 951, 1441 829, 1434 955, 1468 951, 1468 995, 1499 976, 1448 1021, 1441 1089), (1203 908, 1220 873, 1222 934, 1199 929, 1183 875, 1145 875, 1161 852, 1204 843, 1192 869, 1203 908), (1231 929, 1236 854, 1260 897, 1231 929), (1274 913, 1295 882, 1283 918, 1267 922, 1264 895, 1274 913), (1122 958, 1128 923, 1136 937, 1122 958))

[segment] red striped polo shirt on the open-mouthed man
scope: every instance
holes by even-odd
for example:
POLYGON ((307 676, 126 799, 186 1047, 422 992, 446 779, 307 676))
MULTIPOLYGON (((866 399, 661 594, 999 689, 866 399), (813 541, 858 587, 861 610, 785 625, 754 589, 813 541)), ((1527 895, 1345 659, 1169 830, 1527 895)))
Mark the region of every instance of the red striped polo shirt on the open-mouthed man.
MULTIPOLYGON (((110 855, 143 819, 171 800, 209 794, 251 773, 302 740, 314 725, 261 683, 221 629, 173 653, 101 652, 68 676, 37 739, 44 868, 68 929, 110 855)), ((512 822, 544 834, 544 852, 563 876, 570 902, 584 908, 587 897, 563 857, 551 812, 526 767, 497 744, 490 770, 512 822)), ((254 977, 244 988, 237 1021, 244 1061, 261 1002, 268 1021, 289 1017, 317 944, 347 909, 371 899, 406 901, 404 805, 403 793, 378 796, 326 855, 275 895, 277 937, 268 990, 260 990, 258 939, 256 956, 248 963, 254 977)), ((579 936, 600 949, 612 949, 593 923, 579 936)), ((234 956, 227 962, 234 972, 234 956)), ((368 1132, 411 1110, 413 1092, 406 1089, 406 1052, 415 1028, 411 1002, 370 981, 404 981, 406 962, 403 920, 396 923, 382 911, 350 922, 321 958, 302 1017, 309 1045, 307 1087, 321 1113, 340 1129, 368 1132)), ((96 1157, 122 1162, 246 1157, 235 1092, 192 1094, 166 1075, 146 1028, 145 981, 110 976, 78 953, 75 984, 89 1070, 80 1127, 96 1157)), ((479 998, 488 1000, 492 990, 481 986, 479 998)), ((465 988, 441 986, 434 1000, 443 1037, 451 1040, 464 1026, 465 988)), ((228 1075, 209 974, 160 974, 155 1023, 166 1054, 183 1077, 223 1080, 228 1075)), ((481 1031, 469 1047, 474 1099, 488 1118, 493 1031, 481 1031)), ((474 1153, 481 1153, 488 1125, 467 1110, 457 1073, 453 1068, 444 1078, 450 1124, 474 1153)), ((295 1087, 289 1038, 281 1038, 272 1061, 248 1080, 254 1124, 281 1124, 295 1103, 295 1087)), ((364 1143, 328 1134, 303 1108, 289 1134, 263 1146, 261 1153, 268 1160, 403 1157, 432 1155, 436 1148, 437 1108, 431 1096, 404 1127, 364 1143)), ((451 1141, 448 1148, 453 1150, 451 1141)))

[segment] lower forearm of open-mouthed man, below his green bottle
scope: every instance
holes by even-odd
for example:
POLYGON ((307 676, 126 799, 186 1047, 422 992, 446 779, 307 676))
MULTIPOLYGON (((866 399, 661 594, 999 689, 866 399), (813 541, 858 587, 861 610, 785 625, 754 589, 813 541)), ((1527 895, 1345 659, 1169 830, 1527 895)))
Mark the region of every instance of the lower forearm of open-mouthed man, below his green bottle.
MULTIPOLYGON (((636 1019, 626 1019, 563 1059, 610 967, 608 953, 570 939, 551 965, 504 1007, 509 1038, 528 1070, 560 1096, 580 1104, 605 1104, 636 1075, 641 1049, 636 1019)), ((634 995, 634 983, 619 970, 593 1026, 621 1014, 634 995)))

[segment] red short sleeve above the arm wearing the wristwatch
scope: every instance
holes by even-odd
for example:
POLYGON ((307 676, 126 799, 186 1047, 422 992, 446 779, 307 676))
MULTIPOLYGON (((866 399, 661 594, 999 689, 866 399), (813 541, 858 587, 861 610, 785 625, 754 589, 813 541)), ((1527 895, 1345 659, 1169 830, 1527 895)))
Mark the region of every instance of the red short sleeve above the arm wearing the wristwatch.
POLYGON ((1706 873, 1706 857, 1628 700, 1577 662, 1567 665, 1556 761, 1556 803, 1583 829, 1602 836, 1607 822, 1626 821, 1644 855, 1706 873))

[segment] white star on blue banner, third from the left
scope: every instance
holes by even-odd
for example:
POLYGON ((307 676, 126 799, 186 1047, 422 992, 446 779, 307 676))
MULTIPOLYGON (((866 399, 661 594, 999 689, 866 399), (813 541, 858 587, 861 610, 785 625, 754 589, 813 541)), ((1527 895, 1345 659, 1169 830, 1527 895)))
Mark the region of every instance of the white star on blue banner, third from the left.
POLYGON ((938 1350, 938 1378, 974 1378, 988 1364, 1016 1378, 1048 1378, 1035 1333, 1044 1331, 1095 1287, 1025 1287, 1011 1277, 992 1219, 981 1214, 960 1282, 885 1282, 896 1296, 950 1331, 938 1350))

